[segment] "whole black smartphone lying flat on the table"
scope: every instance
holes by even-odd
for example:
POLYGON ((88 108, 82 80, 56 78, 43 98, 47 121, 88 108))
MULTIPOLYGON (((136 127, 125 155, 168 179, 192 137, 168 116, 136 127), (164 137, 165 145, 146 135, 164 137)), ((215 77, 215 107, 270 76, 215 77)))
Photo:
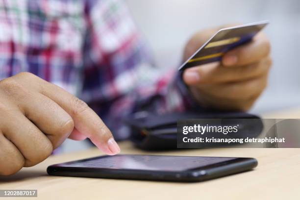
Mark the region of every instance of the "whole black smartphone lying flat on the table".
POLYGON ((170 155, 99 156, 51 165, 49 175, 195 182, 245 172, 254 158, 170 155))

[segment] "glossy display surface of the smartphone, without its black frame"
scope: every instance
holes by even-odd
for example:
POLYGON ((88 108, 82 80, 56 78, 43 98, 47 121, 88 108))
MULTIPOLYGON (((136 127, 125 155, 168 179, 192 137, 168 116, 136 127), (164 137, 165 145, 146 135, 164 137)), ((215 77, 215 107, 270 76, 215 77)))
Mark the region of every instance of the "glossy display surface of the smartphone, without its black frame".
POLYGON ((186 171, 224 161, 234 157, 114 155, 58 164, 60 167, 105 168, 150 171, 186 171))

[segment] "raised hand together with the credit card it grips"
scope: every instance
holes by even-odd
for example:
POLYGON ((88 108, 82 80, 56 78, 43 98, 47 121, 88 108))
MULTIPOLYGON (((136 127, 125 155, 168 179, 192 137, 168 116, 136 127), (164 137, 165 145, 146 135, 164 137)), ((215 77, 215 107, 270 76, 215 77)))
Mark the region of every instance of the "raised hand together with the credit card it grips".
POLYGON ((250 109, 266 88, 272 66, 270 41, 260 32, 267 24, 265 21, 219 31, 210 28, 190 38, 183 53, 186 61, 179 71, 195 106, 227 111, 250 109))

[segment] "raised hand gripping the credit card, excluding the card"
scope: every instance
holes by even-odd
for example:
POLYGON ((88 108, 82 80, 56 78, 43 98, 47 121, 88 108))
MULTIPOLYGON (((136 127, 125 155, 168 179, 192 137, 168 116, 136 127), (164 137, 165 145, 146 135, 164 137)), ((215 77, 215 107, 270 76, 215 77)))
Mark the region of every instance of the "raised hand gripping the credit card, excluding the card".
MULTIPOLYGON (((188 59, 219 28, 195 34, 184 51, 188 59)), ((183 80, 201 106, 222 110, 248 110, 267 85, 272 65, 270 43, 263 33, 228 51, 222 62, 184 71, 183 80)))

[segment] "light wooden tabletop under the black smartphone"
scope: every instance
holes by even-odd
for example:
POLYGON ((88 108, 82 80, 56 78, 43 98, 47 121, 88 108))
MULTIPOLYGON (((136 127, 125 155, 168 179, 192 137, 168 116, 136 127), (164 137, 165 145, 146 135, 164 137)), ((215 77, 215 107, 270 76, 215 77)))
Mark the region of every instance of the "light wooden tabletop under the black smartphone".
MULTIPOLYGON (((300 109, 265 115, 271 118, 300 117, 300 109), (286 113, 286 115, 284 115, 286 113), (297 117, 299 116, 299 117, 297 117)), ((122 153, 255 157, 255 170, 199 183, 173 183, 139 180, 116 180, 49 176, 47 166, 55 163, 98 156, 97 149, 50 156, 44 162, 24 168, 16 175, 0 176, 0 189, 37 189, 45 200, 109 199, 300 199, 300 149, 204 149, 145 152, 130 142, 120 144, 122 153)), ((4 198, 3 198, 4 199, 4 198)), ((7 199, 7 198, 6 198, 7 199)), ((23 199, 23 198, 21 198, 23 199)), ((27 199, 27 198, 24 198, 27 199)))

